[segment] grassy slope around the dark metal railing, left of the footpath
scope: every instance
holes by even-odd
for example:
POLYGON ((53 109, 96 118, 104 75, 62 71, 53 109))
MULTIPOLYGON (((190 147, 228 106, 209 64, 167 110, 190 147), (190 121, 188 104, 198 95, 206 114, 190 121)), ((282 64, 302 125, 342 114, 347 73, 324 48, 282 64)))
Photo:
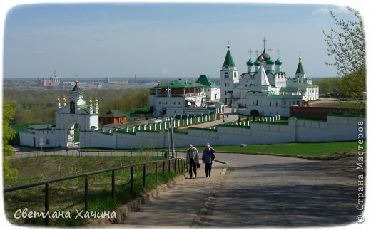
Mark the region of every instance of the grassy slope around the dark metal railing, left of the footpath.
MULTIPOLYGON (((36 182, 42 179, 63 177, 99 169, 119 167, 137 162, 159 160, 163 157, 63 157, 43 156, 11 160, 11 167, 16 167, 19 174, 13 180, 4 181, 4 187, 16 184, 36 182)), ((130 169, 115 172, 115 202, 111 199, 111 172, 89 176, 89 211, 113 211, 143 191, 150 191, 158 184, 168 182, 181 172, 168 172, 165 165, 158 164, 158 182, 155 179, 155 165, 146 167, 146 186, 143 187, 143 166, 134 167, 133 194, 130 192, 130 169)), ((84 209, 84 178, 71 179, 50 184, 50 211, 70 211, 70 219, 51 219, 51 226, 83 226, 88 219, 75 219, 77 210, 84 209)), ((4 194, 6 216, 11 223, 21 226, 44 226, 44 219, 14 219, 17 209, 44 211, 44 186, 31 187, 4 194)))

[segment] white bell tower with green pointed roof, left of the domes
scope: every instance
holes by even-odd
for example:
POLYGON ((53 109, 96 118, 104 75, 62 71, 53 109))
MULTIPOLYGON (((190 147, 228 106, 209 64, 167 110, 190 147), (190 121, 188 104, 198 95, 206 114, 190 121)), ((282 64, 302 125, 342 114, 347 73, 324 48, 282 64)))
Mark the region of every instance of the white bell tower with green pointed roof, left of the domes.
POLYGON ((230 105, 232 101, 228 100, 228 98, 232 98, 233 96, 233 88, 239 83, 239 75, 229 51, 229 43, 227 48, 228 50, 225 54, 224 63, 220 70, 220 98, 223 103, 230 105))

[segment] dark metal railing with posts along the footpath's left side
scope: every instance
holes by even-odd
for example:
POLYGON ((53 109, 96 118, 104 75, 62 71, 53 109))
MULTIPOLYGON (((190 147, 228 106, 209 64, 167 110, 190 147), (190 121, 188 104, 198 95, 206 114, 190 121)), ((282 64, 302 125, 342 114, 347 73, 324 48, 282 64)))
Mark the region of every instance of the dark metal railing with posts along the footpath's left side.
POLYGON ((112 201, 113 201, 113 204, 115 203, 115 172, 118 171, 118 170, 123 170, 123 169, 129 169, 130 168, 130 192, 131 194, 133 194, 133 189, 134 189, 134 167, 138 167, 138 166, 142 166, 143 167, 143 189, 146 188, 146 170, 147 170, 147 165, 148 164, 155 164, 155 182, 157 183, 158 182, 158 164, 163 164, 162 166, 162 174, 163 176, 165 176, 165 169, 166 169, 166 164, 168 164, 168 172, 171 172, 171 162, 173 162, 173 171, 176 172, 178 170, 178 172, 185 172, 188 165, 185 164, 185 158, 181 158, 181 157, 178 157, 178 158, 171 158, 171 159, 166 159, 166 160, 157 160, 157 161, 152 161, 152 162, 141 162, 141 163, 137 163, 137 164, 130 164, 130 165, 126 165, 126 166, 122 166, 122 167, 115 167, 115 168, 111 168, 111 169, 103 169, 103 170, 98 170, 98 171, 93 171, 93 172, 86 172, 86 173, 82 173, 82 174, 76 174, 76 175, 72 175, 72 176, 68 176, 68 177, 59 177, 59 178, 55 178, 55 179, 47 179, 47 180, 44 180, 44 181, 41 181, 41 182, 33 182, 33 183, 29 183, 29 184, 20 184, 20 185, 16 185, 16 186, 12 186, 12 187, 6 187, 4 188, 4 194, 7 193, 7 192, 14 192, 14 191, 17 191, 17 190, 21 190, 21 189, 27 189, 27 188, 31 188, 31 187, 37 187, 37 186, 41 186, 41 185, 44 185, 45 186, 45 192, 44 192, 44 200, 45 200, 45 214, 46 214, 46 217, 45 217, 45 225, 46 226, 49 226, 49 215, 47 215, 47 213, 49 213, 49 185, 52 184, 52 183, 56 183, 56 182, 62 182, 62 181, 66 181, 66 180, 69 180, 69 179, 76 179, 76 178, 81 178, 81 177, 84 177, 85 178, 85 186, 84 186, 84 203, 85 203, 85 206, 84 206, 84 211, 88 211, 88 208, 89 208, 89 198, 88 198, 88 194, 89 194, 89 176, 91 175, 94 175, 94 174, 102 174, 102 173, 105 173, 105 172, 111 172, 111 198, 112 198, 112 201), (178 164, 178 166, 177 166, 178 164))

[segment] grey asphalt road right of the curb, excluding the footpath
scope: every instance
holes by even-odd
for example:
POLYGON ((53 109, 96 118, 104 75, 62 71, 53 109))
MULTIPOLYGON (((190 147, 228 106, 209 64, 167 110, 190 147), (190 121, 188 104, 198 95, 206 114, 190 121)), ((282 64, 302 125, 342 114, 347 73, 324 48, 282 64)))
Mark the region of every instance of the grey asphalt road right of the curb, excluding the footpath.
MULTIPOLYGON (((310 161, 220 154, 233 165, 207 226, 304 227, 355 223, 355 157, 310 161)), ((202 226, 202 224, 200 225, 202 226)))

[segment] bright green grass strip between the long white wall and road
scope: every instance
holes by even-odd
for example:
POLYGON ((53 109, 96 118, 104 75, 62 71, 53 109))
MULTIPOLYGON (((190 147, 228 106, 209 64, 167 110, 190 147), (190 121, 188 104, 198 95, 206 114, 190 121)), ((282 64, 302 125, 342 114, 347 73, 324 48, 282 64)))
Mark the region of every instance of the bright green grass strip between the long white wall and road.
MULTIPOLYGON (((212 143, 211 143, 212 144, 212 143)), ((196 146, 199 152, 202 152, 204 146, 196 146)), ((275 155, 300 155, 322 157, 325 155, 335 155, 339 152, 357 151, 357 142, 312 142, 312 143, 285 143, 272 145, 223 145, 213 146, 216 152, 235 152, 235 153, 270 153, 275 155)), ((188 147, 177 147, 176 152, 185 152, 188 147)), ((90 149, 91 151, 111 151, 108 149, 90 149)), ((117 152, 126 152, 136 150, 113 150, 117 152)), ((167 152, 168 149, 156 149, 157 152, 167 152)))

